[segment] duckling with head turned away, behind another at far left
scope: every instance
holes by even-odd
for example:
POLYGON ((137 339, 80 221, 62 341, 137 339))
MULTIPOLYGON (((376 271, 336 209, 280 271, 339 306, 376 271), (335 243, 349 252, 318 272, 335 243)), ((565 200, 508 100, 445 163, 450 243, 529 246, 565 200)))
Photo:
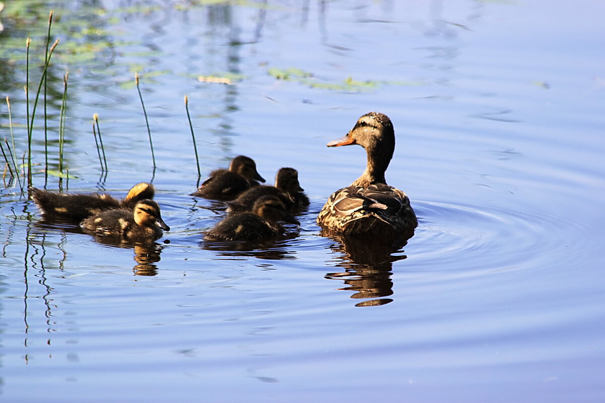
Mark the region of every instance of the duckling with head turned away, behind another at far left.
POLYGON ((155 189, 152 184, 141 182, 129 190, 122 200, 107 193, 56 193, 48 190, 30 189, 30 198, 38 205, 44 216, 80 222, 85 218, 114 208, 132 209, 137 202, 153 199, 155 189))

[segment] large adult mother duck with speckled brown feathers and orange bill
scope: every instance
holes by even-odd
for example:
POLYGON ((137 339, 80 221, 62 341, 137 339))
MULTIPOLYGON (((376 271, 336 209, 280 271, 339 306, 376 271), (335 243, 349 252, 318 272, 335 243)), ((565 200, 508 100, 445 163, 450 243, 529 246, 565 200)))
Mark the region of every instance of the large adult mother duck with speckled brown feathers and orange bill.
POLYGON ((387 115, 370 112, 328 147, 359 144, 367 153, 365 172, 352 185, 336 190, 319 212, 317 223, 330 233, 367 235, 387 242, 411 237, 418 221, 410 199, 387 185, 384 173, 393 157, 395 133, 387 115))

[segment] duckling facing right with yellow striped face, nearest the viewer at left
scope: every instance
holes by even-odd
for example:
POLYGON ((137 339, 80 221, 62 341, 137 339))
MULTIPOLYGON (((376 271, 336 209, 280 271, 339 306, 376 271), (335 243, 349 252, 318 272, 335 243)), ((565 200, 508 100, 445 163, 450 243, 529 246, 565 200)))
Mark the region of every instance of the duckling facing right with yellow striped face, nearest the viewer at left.
POLYGON ((155 240, 162 237, 162 230, 170 230, 162 220, 160 206, 149 199, 137 202, 133 210, 116 208, 102 211, 82 221, 80 227, 96 235, 128 240, 155 240))

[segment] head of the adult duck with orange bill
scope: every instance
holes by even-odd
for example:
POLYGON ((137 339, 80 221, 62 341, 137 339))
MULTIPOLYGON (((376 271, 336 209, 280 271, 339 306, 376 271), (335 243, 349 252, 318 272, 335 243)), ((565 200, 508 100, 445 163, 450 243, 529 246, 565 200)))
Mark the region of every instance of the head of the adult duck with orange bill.
POLYGON ((381 150, 384 158, 391 160, 395 149, 395 132, 393 123, 387 115, 379 112, 370 112, 360 117, 344 137, 330 141, 328 147, 348 146, 359 144, 368 152, 381 150))

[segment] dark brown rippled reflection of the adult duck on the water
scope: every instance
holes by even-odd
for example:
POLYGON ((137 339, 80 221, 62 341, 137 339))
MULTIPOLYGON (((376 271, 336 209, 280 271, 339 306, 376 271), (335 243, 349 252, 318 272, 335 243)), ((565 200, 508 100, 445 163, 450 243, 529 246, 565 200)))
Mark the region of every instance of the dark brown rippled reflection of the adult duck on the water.
POLYGON ((322 234, 337 241, 331 248, 343 254, 343 262, 336 267, 345 268, 344 272, 326 273, 326 279, 344 280, 345 287, 341 290, 355 291, 351 298, 373 298, 361 301, 355 306, 385 305, 393 301, 388 297, 393 295, 393 262, 405 259, 407 256, 397 256, 396 253, 405 243, 399 243, 399 248, 392 248, 371 239, 322 234))

